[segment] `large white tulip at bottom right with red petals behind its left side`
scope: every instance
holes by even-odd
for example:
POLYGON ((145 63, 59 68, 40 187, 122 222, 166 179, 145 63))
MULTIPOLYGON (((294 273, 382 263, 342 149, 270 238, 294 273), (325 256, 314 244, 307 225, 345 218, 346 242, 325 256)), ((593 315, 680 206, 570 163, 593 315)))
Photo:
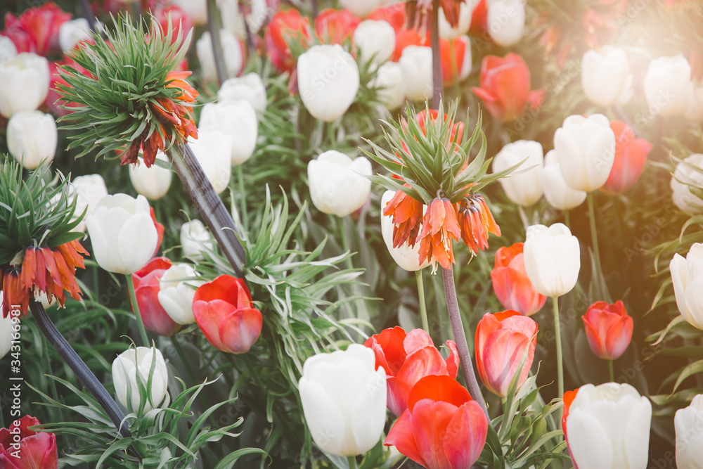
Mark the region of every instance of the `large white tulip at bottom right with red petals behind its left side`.
POLYGON ((651 420, 652 404, 631 385, 581 386, 566 419, 574 467, 647 468, 651 420))

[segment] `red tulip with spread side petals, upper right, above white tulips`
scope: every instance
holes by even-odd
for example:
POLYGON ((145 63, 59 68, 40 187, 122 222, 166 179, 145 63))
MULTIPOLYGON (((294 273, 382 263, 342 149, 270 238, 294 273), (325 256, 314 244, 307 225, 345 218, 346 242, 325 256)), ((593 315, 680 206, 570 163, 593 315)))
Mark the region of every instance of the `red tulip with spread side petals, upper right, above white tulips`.
POLYGON ((489 113, 509 122, 523 113, 527 103, 536 109, 544 98, 543 89, 529 91, 529 68, 521 56, 509 53, 501 58, 485 56, 481 63, 481 87, 472 88, 489 113))

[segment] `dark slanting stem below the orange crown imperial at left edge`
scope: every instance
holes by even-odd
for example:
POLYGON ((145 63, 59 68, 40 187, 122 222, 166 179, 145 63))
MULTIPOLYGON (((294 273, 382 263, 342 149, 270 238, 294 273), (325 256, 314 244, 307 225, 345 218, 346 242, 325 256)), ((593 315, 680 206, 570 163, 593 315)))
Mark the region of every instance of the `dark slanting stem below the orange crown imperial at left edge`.
POLYGON ((30 298, 30 310, 34 316, 34 321, 37 322, 37 326, 39 326, 39 330, 44 334, 46 340, 49 340, 49 343, 56 349, 56 352, 58 352, 63 361, 76 373, 78 379, 88 388, 91 394, 93 394, 98 404, 105 409, 105 412, 110 416, 110 420, 115 424, 115 428, 120 429, 120 435, 130 437, 131 433, 129 432, 127 423, 122 423, 124 414, 120 410, 120 407, 117 406, 115 400, 112 399, 112 396, 105 390, 105 387, 98 381, 98 378, 93 375, 90 368, 88 368, 81 357, 78 356, 56 326, 53 325, 41 303, 35 302, 33 298, 30 298))

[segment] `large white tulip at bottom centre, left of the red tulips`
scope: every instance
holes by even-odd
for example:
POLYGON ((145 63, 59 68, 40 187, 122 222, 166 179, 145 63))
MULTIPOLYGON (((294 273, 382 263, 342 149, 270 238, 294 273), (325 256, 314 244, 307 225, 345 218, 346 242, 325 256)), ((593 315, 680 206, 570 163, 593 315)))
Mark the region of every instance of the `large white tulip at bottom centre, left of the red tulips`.
POLYGON ((353 456, 373 448, 386 421, 386 373, 359 344, 305 361, 298 383, 303 413, 317 446, 353 456))

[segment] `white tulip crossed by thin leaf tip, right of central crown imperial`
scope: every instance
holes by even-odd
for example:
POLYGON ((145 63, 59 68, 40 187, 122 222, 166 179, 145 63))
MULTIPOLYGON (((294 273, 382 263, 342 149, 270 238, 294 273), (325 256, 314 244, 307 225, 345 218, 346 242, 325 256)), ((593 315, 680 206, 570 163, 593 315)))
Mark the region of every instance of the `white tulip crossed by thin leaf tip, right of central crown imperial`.
POLYGON ((544 162, 542 146, 539 142, 531 140, 518 140, 508 143, 498 152, 493 160, 493 171, 501 172, 511 166, 517 165, 522 160, 524 162, 516 169, 519 172, 527 169, 521 174, 509 175, 498 179, 503 191, 508 198, 517 205, 529 207, 542 196, 542 186, 539 180, 539 173, 544 162))

